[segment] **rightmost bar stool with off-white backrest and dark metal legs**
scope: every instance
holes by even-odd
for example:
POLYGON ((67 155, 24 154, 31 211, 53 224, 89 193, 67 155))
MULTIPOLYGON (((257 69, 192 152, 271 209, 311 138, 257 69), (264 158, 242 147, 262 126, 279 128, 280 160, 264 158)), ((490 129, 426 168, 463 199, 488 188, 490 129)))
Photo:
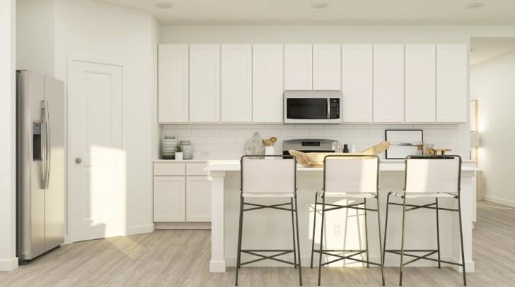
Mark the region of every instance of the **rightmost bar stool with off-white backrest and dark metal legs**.
MULTIPOLYGON (((386 224, 384 231, 384 248, 383 252, 390 252, 400 255, 400 274, 399 286, 403 285, 403 267, 419 259, 430 260, 438 262, 438 268, 441 263, 453 264, 463 268, 463 285, 467 285, 465 275, 465 254, 463 252, 463 227, 461 225, 461 200, 460 188, 461 186, 461 157, 457 155, 445 156, 408 156, 405 159, 405 179, 404 179, 404 192, 388 193, 386 200, 386 224), (403 203, 390 202, 390 195, 400 197, 403 203), (433 198, 434 202, 430 204, 407 204, 407 198, 433 198), (438 206, 439 198, 449 198, 458 201, 458 209, 449 209, 438 206), (403 228, 401 235, 400 250, 387 250, 386 249, 386 231, 388 228, 388 208, 390 205, 397 205, 403 207, 403 228), (436 211, 436 250, 405 250, 404 249, 404 236, 405 236, 405 218, 406 212, 416 209, 434 209, 436 211), (460 224, 460 240, 461 240, 461 263, 449 262, 441 260, 440 258, 440 227, 438 214, 440 210, 449 212, 458 212, 458 220, 460 224), (424 255, 418 256, 415 254, 405 252, 424 252, 424 255), (430 258, 431 255, 437 255, 437 259, 430 258), (404 256, 413 257, 408 262, 404 262, 404 256)), ((383 260, 385 255, 383 254, 383 260)))

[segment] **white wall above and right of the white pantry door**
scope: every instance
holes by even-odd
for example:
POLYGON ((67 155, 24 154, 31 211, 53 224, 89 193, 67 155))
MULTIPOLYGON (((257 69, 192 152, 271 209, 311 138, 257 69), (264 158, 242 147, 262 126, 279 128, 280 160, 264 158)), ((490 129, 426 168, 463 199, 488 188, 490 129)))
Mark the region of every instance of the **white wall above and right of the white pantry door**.
POLYGON ((127 152, 127 233, 153 230, 156 154, 156 42, 148 13, 98 1, 55 1, 55 76, 67 78, 69 55, 123 65, 123 147, 127 152), (154 143, 154 145, 153 145, 154 143))

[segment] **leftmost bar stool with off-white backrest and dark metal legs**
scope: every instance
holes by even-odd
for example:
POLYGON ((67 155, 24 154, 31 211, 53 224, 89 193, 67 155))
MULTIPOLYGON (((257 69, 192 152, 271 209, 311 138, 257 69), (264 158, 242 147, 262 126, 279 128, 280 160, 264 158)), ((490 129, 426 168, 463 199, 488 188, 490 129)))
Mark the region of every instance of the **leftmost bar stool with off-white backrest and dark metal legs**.
POLYGON ((272 259, 278 262, 291 264, 299 267, 299 285, 302 286, 301 252, 299 243, 299 216, 297 214, 297 168, 296 159, 291 156, 267 155, 241 157, 241 193, 240 193, 240 221, 238 228, 238 254, 236 259, 236 283, 238 286, 238 271, 241 266, 258 262, 265 259, 272 259), (275 157, 275 158, 274 158, 275 157), (272 159, 272 160, 268 160, 272 159), (245 201, 248 198, 289 198, 289 202, 264 205, 245 201), (245 206, 247 206, 245 208, 245 206), (244 250, 241 249, 243 212, 250 212, 258 209, 279 209, 291 212, 291 229, 293 237, 293 249, 291 250, 244 250), (296 243, 295 243, 296 238, 296 243), (260 253, 274 252, 272 255, 260 253), (294 254, 294 262, 289 262, 277 257, 294 254), (248 262, 241 262, 241 253, 260 257, 248 262), (297 259, 298 257, 298 259, 297 259))

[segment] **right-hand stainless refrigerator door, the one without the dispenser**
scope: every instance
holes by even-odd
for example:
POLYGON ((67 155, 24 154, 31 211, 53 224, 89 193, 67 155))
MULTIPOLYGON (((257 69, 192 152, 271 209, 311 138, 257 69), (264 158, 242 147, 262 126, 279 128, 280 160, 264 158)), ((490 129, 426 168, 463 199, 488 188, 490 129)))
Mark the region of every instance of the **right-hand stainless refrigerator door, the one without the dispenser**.
POLYGON ((45 77, 47 121, 47 190, 45 192, 45 250, 64 242, 64 83, 45 77))

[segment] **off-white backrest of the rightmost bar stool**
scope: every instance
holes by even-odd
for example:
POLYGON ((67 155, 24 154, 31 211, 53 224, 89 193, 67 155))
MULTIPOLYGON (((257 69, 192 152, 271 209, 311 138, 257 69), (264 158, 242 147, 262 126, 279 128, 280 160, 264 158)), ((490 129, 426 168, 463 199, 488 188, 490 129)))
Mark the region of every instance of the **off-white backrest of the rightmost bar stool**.
POLYGON ((408 156, 405 159, 405 192, 459 193, 461 157, 408 156))

